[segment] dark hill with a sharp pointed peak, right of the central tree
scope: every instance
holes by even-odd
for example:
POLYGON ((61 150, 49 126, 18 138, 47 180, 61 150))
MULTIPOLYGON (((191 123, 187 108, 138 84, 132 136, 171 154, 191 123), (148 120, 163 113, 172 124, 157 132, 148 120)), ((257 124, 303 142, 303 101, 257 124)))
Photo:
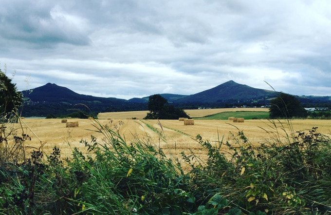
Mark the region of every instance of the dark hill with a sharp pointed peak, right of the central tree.
POLYGON ((253 88, 244 84, 236 83, 233 80, 227 81, 209 90, 178 98, 177 103, 224 103, 224 102, 244 102, 257 99, 272 98, 276 92, 253 88))

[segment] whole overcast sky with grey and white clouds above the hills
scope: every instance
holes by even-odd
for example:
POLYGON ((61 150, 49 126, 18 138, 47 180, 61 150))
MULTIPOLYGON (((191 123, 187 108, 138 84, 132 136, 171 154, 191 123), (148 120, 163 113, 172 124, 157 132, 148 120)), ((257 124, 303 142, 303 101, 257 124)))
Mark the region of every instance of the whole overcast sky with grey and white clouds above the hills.
POLYGON ((1 0, 0 68, 101 97, 331 96, 331 0, 1 0))

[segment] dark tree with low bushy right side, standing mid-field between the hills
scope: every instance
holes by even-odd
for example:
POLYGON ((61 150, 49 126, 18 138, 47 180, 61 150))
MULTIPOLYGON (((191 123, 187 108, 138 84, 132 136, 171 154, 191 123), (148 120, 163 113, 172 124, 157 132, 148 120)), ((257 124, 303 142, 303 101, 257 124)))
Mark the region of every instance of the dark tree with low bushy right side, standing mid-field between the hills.
POLYGON ((145 119, 178 119, 189 118, 184 110, 168 104, 168 100, 161 95, 155 94, 149 97, 147 109, 149 113, 145 119))

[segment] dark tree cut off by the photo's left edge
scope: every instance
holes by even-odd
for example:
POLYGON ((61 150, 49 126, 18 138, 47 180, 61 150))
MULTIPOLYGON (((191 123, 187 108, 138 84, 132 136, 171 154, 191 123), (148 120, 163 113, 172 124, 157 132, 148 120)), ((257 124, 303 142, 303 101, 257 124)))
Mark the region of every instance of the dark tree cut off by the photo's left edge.
POLYGON ((0 69, 0 117, 8 117, 22 104, 22 94, 18 92, 16 84, 0 69))

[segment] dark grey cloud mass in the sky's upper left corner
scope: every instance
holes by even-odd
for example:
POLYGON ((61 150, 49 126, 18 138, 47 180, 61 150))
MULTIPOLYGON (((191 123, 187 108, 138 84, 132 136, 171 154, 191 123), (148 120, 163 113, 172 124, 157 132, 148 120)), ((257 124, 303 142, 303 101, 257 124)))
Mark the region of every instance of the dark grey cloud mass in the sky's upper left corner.
POLYGON ((87 21, 84 18, 71 15, 56 4, 36 3, 37 6, 27 1, 7 2, 9 8, 2 8, 0 15, 2 37, 36 46, 59 42, 89 44, 87 30, 84 29, 87 21))

